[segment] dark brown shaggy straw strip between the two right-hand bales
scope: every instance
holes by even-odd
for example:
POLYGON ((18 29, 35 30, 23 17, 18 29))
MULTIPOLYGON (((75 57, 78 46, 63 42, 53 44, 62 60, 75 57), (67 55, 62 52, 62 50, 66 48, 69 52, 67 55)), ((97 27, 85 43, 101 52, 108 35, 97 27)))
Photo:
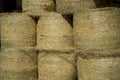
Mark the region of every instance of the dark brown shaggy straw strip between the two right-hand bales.
POLYGON ((77 56, 81 58, 106 58, 106 57, 120 57, 120 50, 109 50, 109 51, 75 51, 77 56))

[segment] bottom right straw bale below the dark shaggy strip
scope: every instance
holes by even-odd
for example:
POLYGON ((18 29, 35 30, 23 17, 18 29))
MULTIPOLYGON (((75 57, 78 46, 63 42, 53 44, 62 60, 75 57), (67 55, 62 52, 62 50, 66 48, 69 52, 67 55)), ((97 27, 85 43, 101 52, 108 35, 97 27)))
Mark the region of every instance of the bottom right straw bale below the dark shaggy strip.
POLYGON ((119 80, 120 57, 77 60, 78 80, 119 80))

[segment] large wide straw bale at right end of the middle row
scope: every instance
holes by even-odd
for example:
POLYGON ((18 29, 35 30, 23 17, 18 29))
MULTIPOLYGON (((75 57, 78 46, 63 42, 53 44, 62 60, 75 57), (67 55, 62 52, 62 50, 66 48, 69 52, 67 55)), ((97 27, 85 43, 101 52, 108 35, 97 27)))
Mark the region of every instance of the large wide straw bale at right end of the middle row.
POLYGON ((74 40, 77 50, 104 51, 120 48, 120 9, 100 8, 74 15, 74 40))

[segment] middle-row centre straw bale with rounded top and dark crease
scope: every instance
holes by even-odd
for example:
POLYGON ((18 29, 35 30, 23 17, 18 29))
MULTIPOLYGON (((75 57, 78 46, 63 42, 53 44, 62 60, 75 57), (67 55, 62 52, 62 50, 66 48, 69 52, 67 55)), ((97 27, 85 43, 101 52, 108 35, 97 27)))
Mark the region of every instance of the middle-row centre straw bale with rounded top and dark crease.
POLYGON ((41 16, 37 24, 37 47, 40 50, 72 50, 71 25, 58 13, 41 16))

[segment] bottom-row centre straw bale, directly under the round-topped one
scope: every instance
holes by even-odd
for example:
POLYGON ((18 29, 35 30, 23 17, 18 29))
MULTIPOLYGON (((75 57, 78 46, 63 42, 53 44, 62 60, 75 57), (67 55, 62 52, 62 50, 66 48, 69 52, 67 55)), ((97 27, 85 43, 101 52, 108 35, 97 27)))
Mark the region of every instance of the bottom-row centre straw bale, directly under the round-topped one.
POLYGON ((75 80, 75 55, 72 52, 39 52, 38 75, 38 80, 75 80))

